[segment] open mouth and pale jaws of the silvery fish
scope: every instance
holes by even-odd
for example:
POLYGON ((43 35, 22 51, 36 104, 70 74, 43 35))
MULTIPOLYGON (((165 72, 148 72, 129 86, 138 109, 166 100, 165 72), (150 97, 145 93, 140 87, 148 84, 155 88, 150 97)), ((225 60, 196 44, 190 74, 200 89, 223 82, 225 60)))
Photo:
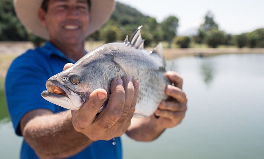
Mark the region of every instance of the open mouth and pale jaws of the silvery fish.
POLYGON ((61 107, 79 110, 84 103, 85 95, 83 92, 75 92, 57 81, 48 80, 46 82, 46 88, 47 90, 43 91, 41 96, 61 107))

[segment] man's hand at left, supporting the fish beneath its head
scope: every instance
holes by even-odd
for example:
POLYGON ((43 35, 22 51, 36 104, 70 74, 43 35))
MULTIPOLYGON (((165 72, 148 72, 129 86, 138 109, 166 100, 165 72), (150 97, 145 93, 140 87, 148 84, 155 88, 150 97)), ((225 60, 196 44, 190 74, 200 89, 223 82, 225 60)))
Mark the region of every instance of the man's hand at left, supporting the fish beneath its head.
MULTIPOLYGON (((66 64, 67 69, 72 64, 66 64)), ((104 89, 94 90, 78 111, 72 111, 72 123, 76 131, 91 140, 111 140, 123 135, 130 126, 137 103, 139 83, 129 76, 112 81, 111 94, 106 108, 97 112, 107 98, 104 89)))

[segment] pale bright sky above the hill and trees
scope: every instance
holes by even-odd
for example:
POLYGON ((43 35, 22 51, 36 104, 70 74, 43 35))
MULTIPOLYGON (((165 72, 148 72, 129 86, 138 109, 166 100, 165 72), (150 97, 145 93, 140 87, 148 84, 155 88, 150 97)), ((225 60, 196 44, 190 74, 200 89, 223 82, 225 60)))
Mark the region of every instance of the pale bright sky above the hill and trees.
POLYGON ((241 34, 264 28, 264 0, 117 0, 144 15, 163 21, 172 15, 179 19, 178 34, 199 28, 208 11, 220 30, 241 34))

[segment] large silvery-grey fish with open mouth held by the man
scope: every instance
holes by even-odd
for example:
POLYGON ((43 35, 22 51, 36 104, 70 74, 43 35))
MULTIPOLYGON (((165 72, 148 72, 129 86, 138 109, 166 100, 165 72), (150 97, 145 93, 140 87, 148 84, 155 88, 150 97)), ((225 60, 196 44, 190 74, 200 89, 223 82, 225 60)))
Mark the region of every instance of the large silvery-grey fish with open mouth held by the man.
POLYGON ((128 40, 112 42, 87 53, 73 66, 50 77, 42 97, 70 110, 79 110, 90 93, 98 88, 107 91, 114 78, 130 76, 139 81, 139 90, 133 117, 148 117, 157 110, 162 100, 168 98, 165 89, 171 84, 166 72, 163 46, 159 43, 152 51, 144 49, 139 26, 128 40))

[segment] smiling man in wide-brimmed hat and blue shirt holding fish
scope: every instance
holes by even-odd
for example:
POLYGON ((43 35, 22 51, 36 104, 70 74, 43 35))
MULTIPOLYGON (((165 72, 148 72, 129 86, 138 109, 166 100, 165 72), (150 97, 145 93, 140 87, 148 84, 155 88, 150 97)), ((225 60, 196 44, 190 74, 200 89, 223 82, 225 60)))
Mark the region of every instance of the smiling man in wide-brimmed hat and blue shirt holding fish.
POLYGON ((42 99, 46 80, 86 54, 85 38, 109 18, 113 0, 14 0, 20 21, 48 39, 11 64, 5 83, 8 110, 15 132, 24 137, 21 158, 122 158, 120 136, 139 141, 156 139, 184 118, 187 99, 182 78, 167 72, 170 99, 147 118, 132 118, 139 83, 126 76, 111 83, 106 109, 96 114, 107 97, 94 90, 78 111, 42 99), (113 145, 113 139, 116 142, 113 145))

